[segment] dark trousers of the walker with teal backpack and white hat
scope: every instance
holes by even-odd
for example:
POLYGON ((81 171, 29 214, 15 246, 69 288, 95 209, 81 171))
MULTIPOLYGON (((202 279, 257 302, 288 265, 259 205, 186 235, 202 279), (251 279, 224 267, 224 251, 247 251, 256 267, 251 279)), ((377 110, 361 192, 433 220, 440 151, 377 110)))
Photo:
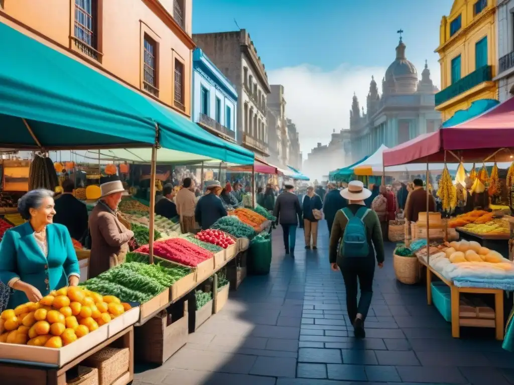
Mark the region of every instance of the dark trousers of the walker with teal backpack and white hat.
POLYGON ((375 258, 342 258, 339 265, 346 287, 346 309, 350 321, 354 321, 357 313, 362 320, 368 315, 373 297, 373 276, 375 275, 375 258), (360 299, 357 304, 357 279, 360 286, 360 299))

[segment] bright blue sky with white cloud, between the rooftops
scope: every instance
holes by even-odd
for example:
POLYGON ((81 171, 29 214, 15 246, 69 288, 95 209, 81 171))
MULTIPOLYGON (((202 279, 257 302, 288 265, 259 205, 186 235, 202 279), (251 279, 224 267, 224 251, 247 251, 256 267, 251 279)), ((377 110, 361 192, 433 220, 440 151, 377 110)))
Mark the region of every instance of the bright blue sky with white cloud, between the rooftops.
POLYGON ((283 84, 287 115, 300 130, 306 153, 348 128, 353 92, 362 103, 371 75, 379 91, 395 58, 397 30, 419 76, 428 60, 439 80, 441 17, 452 0, 193 0, 193 33, 246 28, 263 60, 268 79, 283 84), (311 108, 308 108, 308 107, 311 108), (315 109, 313 111, 313 109, 315 109), (310 111, 309 111, 310 110, 310 111))

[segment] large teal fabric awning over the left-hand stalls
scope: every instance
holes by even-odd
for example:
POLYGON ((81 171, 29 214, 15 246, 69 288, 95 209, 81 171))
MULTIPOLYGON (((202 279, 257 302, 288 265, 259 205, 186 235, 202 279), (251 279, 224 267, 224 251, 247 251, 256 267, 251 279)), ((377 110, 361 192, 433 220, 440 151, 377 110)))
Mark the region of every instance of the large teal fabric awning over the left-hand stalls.
POLYGON ((0 23, 0 146, 46 149, 143 147, 190 160, 253 164, 253 153, 100 72, 0 23))

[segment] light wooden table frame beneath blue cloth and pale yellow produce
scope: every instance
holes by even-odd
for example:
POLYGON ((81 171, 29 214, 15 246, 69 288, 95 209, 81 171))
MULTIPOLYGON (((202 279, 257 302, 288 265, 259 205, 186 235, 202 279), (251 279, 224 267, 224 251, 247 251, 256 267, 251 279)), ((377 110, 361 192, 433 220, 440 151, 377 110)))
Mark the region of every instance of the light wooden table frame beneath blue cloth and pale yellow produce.
POLYGON ((427 269, 427 302, 432 304, 432 275, 435 275, 446 285, 450 287, 451 292, 451 335, 453 338, 461 337, 461 326, 476 326, 467 322, 467 319, 461 319, 460 313, 460 296, 461 293, 473 294, 493 294, 494 295, 494 324, 496 339, 502 341, 504 337, 504 316, 503 316, 503 290, 491 289, 485 287, 457 287, 452 281, 449 281, 439 273, 437 273, 431 266, 428 266, 426 261, 418 258, 421 265, 427 269))

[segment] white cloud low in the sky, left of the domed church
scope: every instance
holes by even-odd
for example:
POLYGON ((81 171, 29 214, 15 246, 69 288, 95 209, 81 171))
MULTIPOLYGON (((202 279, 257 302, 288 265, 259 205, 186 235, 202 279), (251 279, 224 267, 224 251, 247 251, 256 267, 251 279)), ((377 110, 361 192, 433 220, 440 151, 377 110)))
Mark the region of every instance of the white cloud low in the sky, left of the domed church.
POLYGON ((333 71, 300 65, 268 72, 270 84, 284 86, 286 115, 296 123, 300 133, 303 159, 318 142, 327 144, 335 129, 350 128, 350 109, 354 92, 359 105, 366 109, 366 95, 371 76, 381 92, 386 68, 356 67, 342 64, 333 71))

